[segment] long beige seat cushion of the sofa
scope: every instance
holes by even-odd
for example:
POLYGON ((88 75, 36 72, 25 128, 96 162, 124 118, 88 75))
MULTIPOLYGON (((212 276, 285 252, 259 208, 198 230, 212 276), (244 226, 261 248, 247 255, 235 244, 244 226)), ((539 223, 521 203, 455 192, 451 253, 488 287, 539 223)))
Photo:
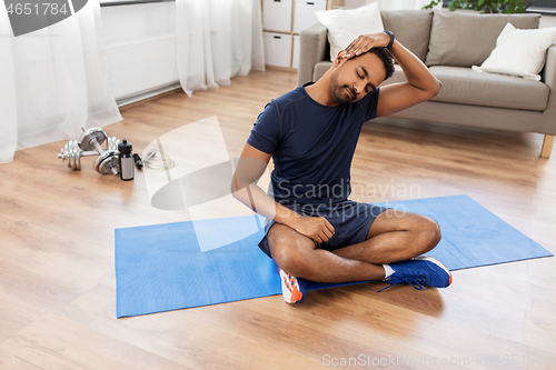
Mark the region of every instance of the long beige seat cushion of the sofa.
MULTIPOLYGON (((406 81, 401 68, 395 68, 394 76, 380 86, 406 81)), ((543 111, 550 92, 540 81, 483 73, 470 68, 435 66, 430 72, 443 82, 440 92, 431 101, 543 111)))

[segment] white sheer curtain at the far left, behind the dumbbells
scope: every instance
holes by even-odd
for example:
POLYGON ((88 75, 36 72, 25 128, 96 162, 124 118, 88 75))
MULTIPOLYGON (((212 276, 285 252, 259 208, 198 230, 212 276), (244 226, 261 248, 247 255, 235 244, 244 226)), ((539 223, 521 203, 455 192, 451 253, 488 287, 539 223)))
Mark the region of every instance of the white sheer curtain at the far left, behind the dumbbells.
POLYGON ((77 139, 81 127, 122 120, 102 50, 99 0, 19 37, 0 4, 0 163, 19 149, 77 139))

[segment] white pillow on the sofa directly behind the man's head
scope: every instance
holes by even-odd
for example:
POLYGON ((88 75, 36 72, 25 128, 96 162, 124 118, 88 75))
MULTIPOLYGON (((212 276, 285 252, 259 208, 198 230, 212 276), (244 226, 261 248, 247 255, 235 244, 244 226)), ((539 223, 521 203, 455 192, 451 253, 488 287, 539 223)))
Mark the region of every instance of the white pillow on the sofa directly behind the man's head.
POLYGON ((320 10, 316 11, 315 16, 328 28, 331 61, 359 34, 384 31, 383 18, 380 18, 380 10, 376 2, 349 10, 320 10))

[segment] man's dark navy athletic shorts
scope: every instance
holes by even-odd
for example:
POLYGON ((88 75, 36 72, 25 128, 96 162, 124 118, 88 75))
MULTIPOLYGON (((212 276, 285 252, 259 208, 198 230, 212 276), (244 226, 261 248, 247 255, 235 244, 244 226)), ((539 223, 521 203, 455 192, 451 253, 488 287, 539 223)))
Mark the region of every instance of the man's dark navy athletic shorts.
MULTIPOLYGON (((324 243, 317 243, 317 248, 326 250, 335 250, 365 241, 373 222, 375 222, 380 213, 388 209, 381 206, 359 203, 351 200, 318 206, 299 203, 284 206, 302 216, 324 217, 331 223, 335 230, 332 238, 324 243)), ((276 221, 274 220, 266 220, 265 237, 259 242, 260 250, 270 258, 267 233, 275 223, 276 221)))

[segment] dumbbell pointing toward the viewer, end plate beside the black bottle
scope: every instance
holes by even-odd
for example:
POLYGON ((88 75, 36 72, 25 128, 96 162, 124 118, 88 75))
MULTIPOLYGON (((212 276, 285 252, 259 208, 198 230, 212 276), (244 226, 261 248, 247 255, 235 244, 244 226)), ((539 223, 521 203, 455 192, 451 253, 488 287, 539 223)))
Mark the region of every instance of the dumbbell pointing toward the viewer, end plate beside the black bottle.
POLYGON ((80 148, 83 151, 97 149, 99 157, 95 160, 95 170, 97 172, 107 174, 120 173, 118 143, 119 140, 115 137, 108 138, 107 150, 100 146, 107 139, 105 130, 100 128, 92 128, 83 131, 79 138, 80 148))

